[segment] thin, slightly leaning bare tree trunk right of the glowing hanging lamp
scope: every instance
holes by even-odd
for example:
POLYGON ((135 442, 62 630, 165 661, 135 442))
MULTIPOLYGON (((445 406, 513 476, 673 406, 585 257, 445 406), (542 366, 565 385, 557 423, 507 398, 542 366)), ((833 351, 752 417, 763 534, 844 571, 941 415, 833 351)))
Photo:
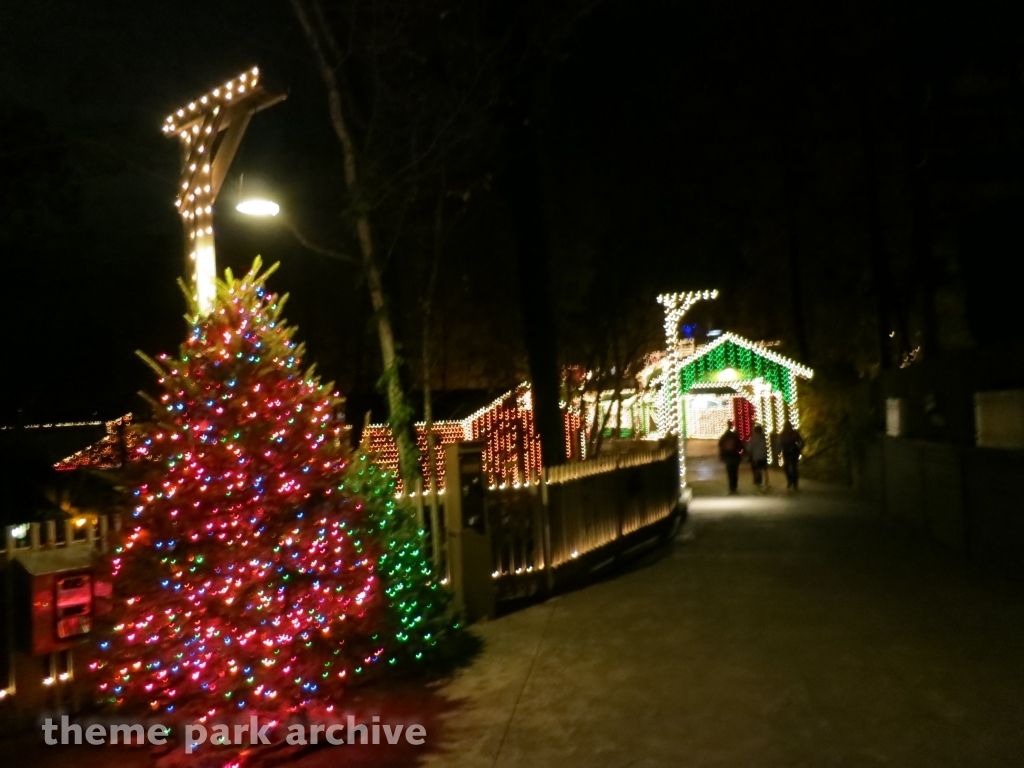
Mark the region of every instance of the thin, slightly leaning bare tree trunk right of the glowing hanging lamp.
POLYGON ((334 48, 333 37, 319 13, 318 7, 313 6, 316 13, 316 28, 306 13, 302 0, 292 0, 292 8, 302 26, 306 42, 313 52, 313 58, 319 70, 321 77, 327 87, 328 108, 331 116, 331 126, 335 135, 341 143, 342 160, 344 165, 345 185, 352 197, 353 208, 355 210, 355 236, 359 243, 359 253, 362 257, 362 270, 367 278, 367 288, 370 291, 370 303, 374 309, 374 316, 377 318, 377 337, 380 341, 381 357, 384 365, 384 390, 387 395, 389 424, 394 437, 395 446, 398 450, 399 472, 402 483, 407 492, 412 492, 416 485, 417 478, 420 477, 420 466, 416 449, 416 440, 413 436, 412 415, 406 404, 406 398, 401 390, 399 379, 399 361, 395 350, 394 332, 391 328, 391 317, 388 314, 387 302, 385 301, 384 284, 381 280, 380 268, 374 253, 373 230, 370 226, 370 217, 367 214, 361 194, 359 189, 359 177, 356 166, 355 144, 345 122, 344 112, 341 104, 341 90, 338 80, 335 77, 335 69, 327 60, 324 46, 321 43, 321 36, 328 45, 334 48))

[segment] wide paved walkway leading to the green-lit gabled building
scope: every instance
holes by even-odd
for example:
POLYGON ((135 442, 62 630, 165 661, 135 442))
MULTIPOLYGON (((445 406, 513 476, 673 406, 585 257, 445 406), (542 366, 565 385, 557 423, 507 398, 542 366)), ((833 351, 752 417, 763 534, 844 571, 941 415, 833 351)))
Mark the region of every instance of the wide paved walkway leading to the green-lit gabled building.
POLYGON ((478 627, 422 765, 1024 764, 1024 589, 844 495, 691 477, 647 562, 478 627))

